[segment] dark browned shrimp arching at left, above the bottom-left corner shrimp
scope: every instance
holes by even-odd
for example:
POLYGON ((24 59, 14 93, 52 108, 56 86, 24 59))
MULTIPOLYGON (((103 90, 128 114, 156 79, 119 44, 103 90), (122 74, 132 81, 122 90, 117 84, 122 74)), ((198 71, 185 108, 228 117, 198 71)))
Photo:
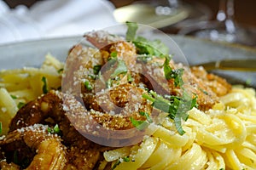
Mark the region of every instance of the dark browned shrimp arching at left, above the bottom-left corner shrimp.
MULTIPOLYGON (((77 167, 78 165, 76 163, 79 162, 77 169, 92 169, 100 156, 99 148, 101 147, 84 138, 84 136, 72 126, 66 111, 64 111, 65 108, 63 107, 72 107, 72 105, 80 106, 76 107, 79 108, 79 110, 74 108, 73 116, 76 114, 76 111, 79 111, 80 115, 78 116, 79 118, 74 119, 73 122, 77 120, 84 122, 81 116, 84 118, 84 115, 86 115, 88 111, 84 110, 84 107, 80 105, 79 101, 76 99, 67 97, 66 95, 66 99, 68 98, 66 101, 69 102, 69 105, 67 105, 67 103, 62 100, 64 98, 63 94, 50 91, 49 94, 45 94, 39 99, 28 103, 18 111, 10 124, 10 130, 13 131, 16 128, 28 127, 35 123, 49 123, 45 122, 45 120, 50 117, 54 123, 59 124, 62 133, 61 139, 63 139, 63 144, 67 147, 68 158, 66 167, 77 167), (66 106, 63 106, 63 103, 65 103, 66 106), (87 155, 85 153, 91 154, 87 155)), ((86 124, 83 125, 85 126, 86 124)), ((83 127, 81 128, 83 129, 83 127)), ((83 130, 85 130, 85 128, 83 130)))

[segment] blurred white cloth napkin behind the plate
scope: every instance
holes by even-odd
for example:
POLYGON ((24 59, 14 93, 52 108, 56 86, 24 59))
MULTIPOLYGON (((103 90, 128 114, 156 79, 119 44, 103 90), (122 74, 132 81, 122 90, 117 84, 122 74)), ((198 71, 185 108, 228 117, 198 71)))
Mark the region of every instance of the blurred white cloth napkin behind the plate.
POLYGON ((105 0, 44 0, 14 9, 0 0, 0 44, 83 35, 117 24, 105 0))

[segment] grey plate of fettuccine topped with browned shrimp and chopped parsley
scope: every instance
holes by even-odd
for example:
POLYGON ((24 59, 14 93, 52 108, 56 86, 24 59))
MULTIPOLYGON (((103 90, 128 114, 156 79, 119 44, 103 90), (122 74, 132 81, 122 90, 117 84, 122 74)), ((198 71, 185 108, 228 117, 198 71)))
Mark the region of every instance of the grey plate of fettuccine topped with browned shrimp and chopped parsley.
POLYGON ((189 66, 256 52, 140 27, 0 47, 2 169, 256 168, 255 73, 189 66))

